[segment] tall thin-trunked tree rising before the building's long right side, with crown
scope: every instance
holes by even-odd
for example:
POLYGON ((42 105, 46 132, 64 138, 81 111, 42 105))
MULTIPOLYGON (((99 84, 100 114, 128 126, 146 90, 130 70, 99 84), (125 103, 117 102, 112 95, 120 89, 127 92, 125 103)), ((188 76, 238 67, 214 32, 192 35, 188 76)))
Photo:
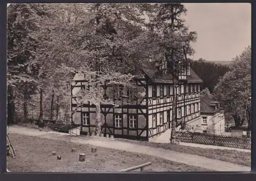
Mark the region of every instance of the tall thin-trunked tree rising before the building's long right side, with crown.
MULTIPOLYGON (((184 25, 184 19, 181 15, 186 14, 186 8, 180 3, 163 3, 148 5, 148 27, 153 38, 158 37, 157 53, 160 54, 159 59, 154 57, 159 63, 167 61, 167 70, 173 76, 174 83, 174 99, 173 99, 173 120, 172 132, 170 135, 171 142, 175 143, 175 130, 177 123, 177 85, 178 76, 186 70, 188 56, 193 55, 194 50, 190 43, 195 42, 197 38, 196 32, 189 32, 184 25)), ((156 39, 156 38, 155 38, 156 39)))

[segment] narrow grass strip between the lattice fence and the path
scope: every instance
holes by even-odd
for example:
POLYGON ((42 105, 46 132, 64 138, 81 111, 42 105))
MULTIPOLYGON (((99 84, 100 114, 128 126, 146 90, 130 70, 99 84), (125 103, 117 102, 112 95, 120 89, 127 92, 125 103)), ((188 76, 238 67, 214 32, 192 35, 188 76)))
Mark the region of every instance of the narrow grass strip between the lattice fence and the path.
POLYGON ((244 166, 251 166, 251 153, 237 151, 237 150, 221 150, 221 149, 210 149, 210 148, 197 148, 183 145, 174 145, 170 143, 153 143, 153 142, 142 142, 127 139, 116 139, 123 142, 136 143, 139 145, 145 145, 155 148, 163 148, 166 150, 173 150, 182 153, 195 154, 199 156, 205 156, 209 159, 221 160, 224 162, 230 162, 233 164, 239 164, 244 166))

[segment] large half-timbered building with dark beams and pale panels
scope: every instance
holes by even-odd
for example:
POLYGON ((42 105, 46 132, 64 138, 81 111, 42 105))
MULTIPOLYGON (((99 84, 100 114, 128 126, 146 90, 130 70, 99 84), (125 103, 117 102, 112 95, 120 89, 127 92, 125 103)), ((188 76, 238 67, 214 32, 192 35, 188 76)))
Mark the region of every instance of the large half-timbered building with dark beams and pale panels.
MULTIPOLYGON (((172 74, 153 64, 142 67, 134 78, 136 88, 104 86, 112 104, 101 104, 101 133, 116 138, 150 141, 170 129, 173 98, 177 91, 177 128, 182 123, 200 124, 200 83, 202 80, 188 65, 173 86, 172 74)), ((81 126, 81 134, 93 132, 96 106, 78 106, 75 95, 86 85, 86 76, 76 75, 71 85, 72 124, 81 126), (75 111, 74 111, 75 110, 75 111)))

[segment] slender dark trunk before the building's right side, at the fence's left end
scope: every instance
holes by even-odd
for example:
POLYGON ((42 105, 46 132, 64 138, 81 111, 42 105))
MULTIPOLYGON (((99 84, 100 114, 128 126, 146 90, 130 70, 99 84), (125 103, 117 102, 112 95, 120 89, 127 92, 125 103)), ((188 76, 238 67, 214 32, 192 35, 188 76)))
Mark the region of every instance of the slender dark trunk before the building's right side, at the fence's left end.
POLYGON ((177 122, 177 80, 174 80, 174 98, 173 98, 173 111, 172 111, 172 132, 170 132, 170 143, 176 143, 176 122, 177 122))

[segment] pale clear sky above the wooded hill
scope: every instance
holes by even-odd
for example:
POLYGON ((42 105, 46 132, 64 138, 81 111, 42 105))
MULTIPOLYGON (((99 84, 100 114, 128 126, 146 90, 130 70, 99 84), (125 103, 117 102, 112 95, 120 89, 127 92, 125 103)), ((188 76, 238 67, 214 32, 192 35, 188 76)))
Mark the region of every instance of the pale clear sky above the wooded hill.
POLYGON ((189 31, 196 31, 194 60, 231 61, 251 45, 249 3, 184 3, 183 18, 189 31))

